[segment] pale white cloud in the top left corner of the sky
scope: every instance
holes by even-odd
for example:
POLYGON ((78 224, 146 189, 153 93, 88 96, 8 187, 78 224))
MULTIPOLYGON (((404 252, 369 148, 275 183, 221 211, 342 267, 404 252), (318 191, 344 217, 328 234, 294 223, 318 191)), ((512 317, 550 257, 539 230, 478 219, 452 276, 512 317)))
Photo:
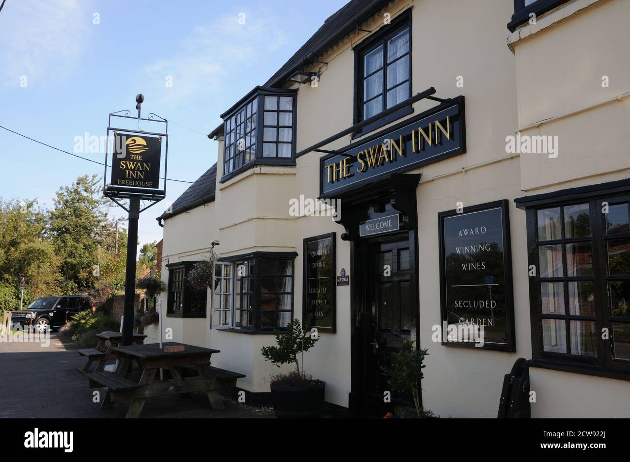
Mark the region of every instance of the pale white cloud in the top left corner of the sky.
POLYGON ((91 16, 80 0, 8 1, 0 13, 0 83, 57 83, 76 69, 91 16))

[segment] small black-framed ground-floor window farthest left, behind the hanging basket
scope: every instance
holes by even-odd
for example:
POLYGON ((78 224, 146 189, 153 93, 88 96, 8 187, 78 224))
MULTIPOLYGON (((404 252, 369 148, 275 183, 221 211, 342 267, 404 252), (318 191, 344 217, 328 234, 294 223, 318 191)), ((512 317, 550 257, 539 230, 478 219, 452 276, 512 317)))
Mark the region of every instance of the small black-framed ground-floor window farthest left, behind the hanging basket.
POLYGON ((195 289, 188 284, 188 272, 197 262, 180 262, 166 265, 168 268, 168 303, 166 315, 176 318, 205 318, 206 289, 195 289))

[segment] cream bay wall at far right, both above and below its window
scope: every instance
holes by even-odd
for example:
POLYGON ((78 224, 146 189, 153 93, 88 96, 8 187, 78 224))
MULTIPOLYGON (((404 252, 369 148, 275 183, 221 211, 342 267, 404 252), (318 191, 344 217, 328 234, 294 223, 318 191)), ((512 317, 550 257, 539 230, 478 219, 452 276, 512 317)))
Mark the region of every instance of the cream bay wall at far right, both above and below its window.
MULTIPOLYGON (((523 135, 558 136, 557 158, 520 155, 523 195, 630 176, 630 103, 605 103, 630 92, 630 3, 602 0, 578 11, 589 3, 565 4, 510 37, 518 127, 523 135), (609 88, 602 88, 604 75, 609 88), (537 122, 539 127, 524 129, 537 122)), ((514 236, 512 242, 518 242, 514 236)), ((533 417, 630 417, 627 381, 534 367, 530 376, 537 399, 533 417)))

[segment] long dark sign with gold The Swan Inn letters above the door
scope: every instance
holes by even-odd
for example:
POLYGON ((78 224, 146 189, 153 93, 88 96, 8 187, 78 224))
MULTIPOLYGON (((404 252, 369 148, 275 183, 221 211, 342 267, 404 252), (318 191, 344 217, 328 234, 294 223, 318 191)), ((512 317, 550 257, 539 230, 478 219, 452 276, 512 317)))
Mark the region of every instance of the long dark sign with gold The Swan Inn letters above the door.
POLYGON ((466 152, 464 96, 320 159, 319 193, 340 192, 466 152))

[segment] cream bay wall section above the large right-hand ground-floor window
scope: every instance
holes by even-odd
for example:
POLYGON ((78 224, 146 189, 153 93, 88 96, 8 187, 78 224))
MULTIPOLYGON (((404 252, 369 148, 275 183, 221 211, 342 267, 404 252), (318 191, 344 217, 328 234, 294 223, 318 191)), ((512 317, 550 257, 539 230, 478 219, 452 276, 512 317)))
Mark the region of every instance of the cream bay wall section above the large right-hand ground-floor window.
MULTIPOLYGON (((571 4, 564 8, 570 9, 571 4)), ((630 96, 629 17, 630 2, 600 1, 512 43, 517 65, 518 126, 524 128, 578 111, 522 130, 529 136, 558 137, 557 158, 521 156, 524 191, 616 170, 624 170, 624 178, 630 175, 630 102, 600 105, 619 95, 630 96), (536 66, 532 66, 534 62, 536 66), (602 88, 602 76, 609 78, 608 88, 602 88)))

